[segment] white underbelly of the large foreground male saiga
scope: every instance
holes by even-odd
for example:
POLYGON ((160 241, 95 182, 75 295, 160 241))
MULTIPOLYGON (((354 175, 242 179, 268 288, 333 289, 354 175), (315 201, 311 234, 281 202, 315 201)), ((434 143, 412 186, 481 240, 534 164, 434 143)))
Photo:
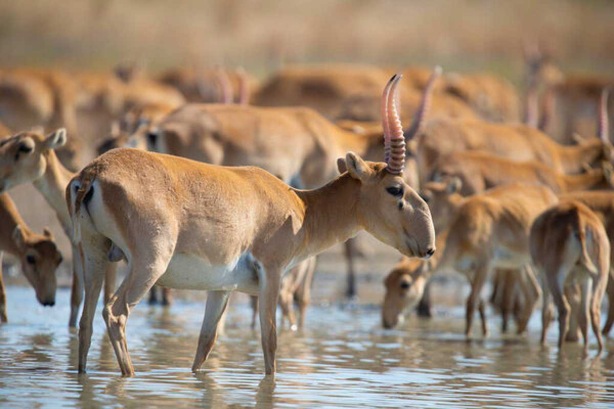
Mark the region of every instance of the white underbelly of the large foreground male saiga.
POLYGON ((157 285, 176 289, 225 290, 258 294, 258 275, 249 253, 215 265, 193 254, 175 254, 157 285))

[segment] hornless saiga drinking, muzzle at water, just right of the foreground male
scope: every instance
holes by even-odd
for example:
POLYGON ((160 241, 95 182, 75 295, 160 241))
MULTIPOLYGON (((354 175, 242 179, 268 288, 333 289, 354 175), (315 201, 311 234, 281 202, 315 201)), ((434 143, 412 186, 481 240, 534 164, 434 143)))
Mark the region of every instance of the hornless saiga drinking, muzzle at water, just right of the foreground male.
MULTIPOLYGON (((484 302, 480 298, 481 290, 492 270, 513 269, 523 270, 519 278, 527 298, 518 323, 520 334, 526 329, 540 292, 529 267, 529 229, 534 218, 545 208, 556 204, 558 198, 545 186, 520 183, 466 198, 457 194, 456 190, 449 193, 443 183, 432 182, 427 188, 430 193, 423 195, 429 202, 437 202, 437 207, 429 204, 436 231, 441 231, 442 226, 448 226, 443 233, 438 233, 438 241, 445 242, 445 245, 440 248, 435 260, 425 262, 424 266, 416 269, 417 275, 413 276, 413 280, 400 281, 393 277, 385 281, 387 291, 382 310, 384 327, 398 324, 406 308, 402 302, 406 299, 405 294, 421 297, 424 284, 432 273, 452 269, 463 273, 472 287, 467 298, 465 334, 470 334, 473 313, 477 307, 482 332, 486 335, 488 329, 484 302), (433 200, 435 194, 440 196, 437 201, 433 200)), ((402 277, 398 273, 395 275, 402 277)))

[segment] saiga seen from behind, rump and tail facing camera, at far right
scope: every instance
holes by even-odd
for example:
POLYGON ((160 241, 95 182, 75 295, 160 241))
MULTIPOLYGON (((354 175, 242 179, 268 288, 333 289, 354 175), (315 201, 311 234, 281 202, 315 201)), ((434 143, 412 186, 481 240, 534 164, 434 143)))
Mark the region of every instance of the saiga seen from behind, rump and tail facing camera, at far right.
MULTIPOLYGON (((538 216, 530 230, 530 252, 534 265, 543 274, 542 343, 553 313, 550 296, 559 312, 559 348, 569 329, 568 286, 580 287, 580 305, 575 308, 588 355, 588 321, 603 348, 599 323, 601 300, 610 270, 610 242, 604 226, 581 202, 566 201, 538 216)), ((572 297, 573 298, 573 297, 572 297)))

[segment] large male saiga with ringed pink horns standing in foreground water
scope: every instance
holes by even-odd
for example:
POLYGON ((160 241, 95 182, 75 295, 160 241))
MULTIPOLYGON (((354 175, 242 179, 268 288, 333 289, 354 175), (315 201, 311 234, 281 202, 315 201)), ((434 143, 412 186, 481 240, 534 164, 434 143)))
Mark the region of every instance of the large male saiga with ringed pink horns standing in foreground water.
POLYGON ((399 77, 384 90, 386 163, 349 152, 341 176, 297 190, 255 167, 222 167, 130 148, 105 153, 66 191, 82 254, 86 297, 79 329, 85 372, 93 315, 109 258, 129 272, 103 317, 122 374, 134 374, 125 337, 134 305, 158 283, 209 291, 192 370, 211 351, 231 291, 258 295, 265 373, 275 372, 281 276, 362 229, 406 256, 435 252, 429 209, 403 180, 405 140, 395 109, 399 77))

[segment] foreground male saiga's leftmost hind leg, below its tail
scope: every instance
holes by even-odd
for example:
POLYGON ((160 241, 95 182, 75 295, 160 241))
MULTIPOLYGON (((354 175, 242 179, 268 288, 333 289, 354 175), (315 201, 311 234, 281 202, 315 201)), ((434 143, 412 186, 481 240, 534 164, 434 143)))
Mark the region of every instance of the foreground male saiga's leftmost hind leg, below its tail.
POLYGON ((90 248, 87 253, 79 253, 83 254, 84 258, 82 262, 85 285, 85 302, 79 323, 79 373, 85 373, 96 304, 98 304, 105 277, 103 272, 106 270, 107 264, 111 264, 107 260, 106 253, 97 250, 90 248))

